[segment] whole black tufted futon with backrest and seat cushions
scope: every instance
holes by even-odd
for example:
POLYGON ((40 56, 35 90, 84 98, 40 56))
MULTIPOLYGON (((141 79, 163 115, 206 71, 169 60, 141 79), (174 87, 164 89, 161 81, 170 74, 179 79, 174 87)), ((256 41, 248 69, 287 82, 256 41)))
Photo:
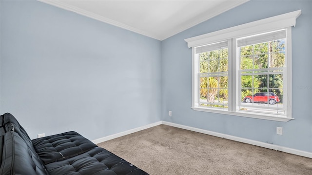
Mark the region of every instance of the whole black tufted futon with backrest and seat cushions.
POLYGON ((0 175, 148 175, 74 131, 30 140, 10 113, 0 116, 0 175))

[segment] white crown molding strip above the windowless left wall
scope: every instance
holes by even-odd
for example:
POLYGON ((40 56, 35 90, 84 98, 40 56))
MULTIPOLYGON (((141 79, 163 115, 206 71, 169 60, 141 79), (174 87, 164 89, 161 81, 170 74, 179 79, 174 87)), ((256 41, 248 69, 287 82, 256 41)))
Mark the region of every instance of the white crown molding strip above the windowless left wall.
POLYGON ((114 26, 117 26, 117 27, 129 30, 129 31, 141 34, 141 35, 145 35, 145 36, 148 36, 148 37, 160 40, 159 36, 149 34, 149 33, 145 32, 145 31, 140 30, 140 29, 137 29, 137 28, 125 25, 123 23, 117 22, 117 21, 109 19, 109 18, 104 18, 102 16, 99 16, 99 15, 94 14, 92 12, 80 9, 78 7, 74 7, 74 6, 62 3, 59 0, 38 0, 38 1, 44 2, 44 3, 49 4, 49 5, 56 6, 56 7, 59 7, 59 8, 71 11, 71 12, 75 12, 75 13, 77 13, 79 15, 82 15, 82 16, 85 16, 85 17, 88 17, 88 18, 93 18, 93 19, 99 20, 101 22, 105 22, 105 23, 108 23, 108 24, 111 24, 111 25, 114 25, 114 26))

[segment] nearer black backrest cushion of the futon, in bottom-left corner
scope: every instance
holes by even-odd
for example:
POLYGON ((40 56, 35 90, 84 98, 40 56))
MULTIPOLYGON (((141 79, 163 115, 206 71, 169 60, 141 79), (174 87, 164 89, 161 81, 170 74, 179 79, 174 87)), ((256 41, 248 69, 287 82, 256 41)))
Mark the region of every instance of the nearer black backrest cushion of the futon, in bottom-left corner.
POLYGON ((40 158, 14 131, 3 135, 0 175, 49 175, 40 158))

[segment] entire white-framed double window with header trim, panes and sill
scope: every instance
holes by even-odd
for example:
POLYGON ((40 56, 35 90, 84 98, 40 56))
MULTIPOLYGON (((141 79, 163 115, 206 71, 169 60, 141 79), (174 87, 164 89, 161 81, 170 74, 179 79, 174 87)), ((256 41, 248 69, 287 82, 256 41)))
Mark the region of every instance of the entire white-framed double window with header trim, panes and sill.
POLYGON ((292 26, 301 10, 188 38, 192 108, 292 120, 292 26))

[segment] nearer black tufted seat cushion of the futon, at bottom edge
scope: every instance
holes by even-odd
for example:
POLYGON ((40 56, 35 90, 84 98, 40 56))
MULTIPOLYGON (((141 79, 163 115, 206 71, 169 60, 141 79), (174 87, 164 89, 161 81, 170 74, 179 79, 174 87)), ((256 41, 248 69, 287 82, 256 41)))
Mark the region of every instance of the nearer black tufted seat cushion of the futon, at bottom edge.
POLYGON ((76 157, 46 164, 50 175, 148 175, 126 160, 94 148, 76 157))

